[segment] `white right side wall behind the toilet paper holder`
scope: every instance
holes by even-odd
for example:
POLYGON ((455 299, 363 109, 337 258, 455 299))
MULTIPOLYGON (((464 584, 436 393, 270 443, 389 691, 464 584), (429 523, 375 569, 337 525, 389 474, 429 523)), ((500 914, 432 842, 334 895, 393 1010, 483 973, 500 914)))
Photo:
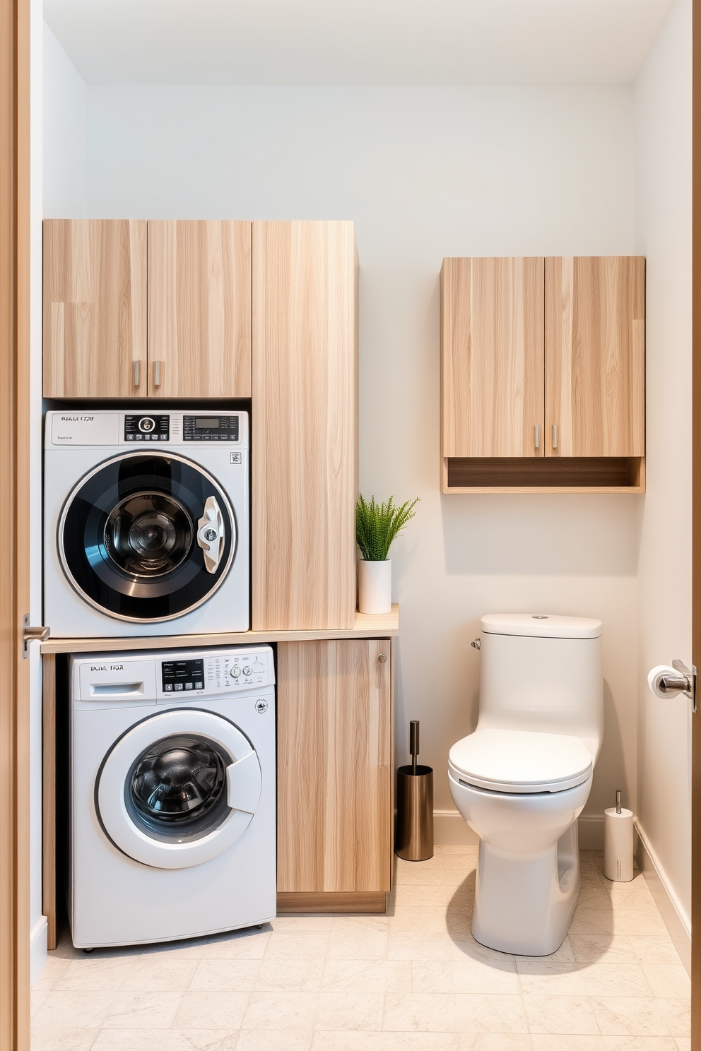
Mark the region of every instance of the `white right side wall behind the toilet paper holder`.
POLYGON ((635 85, 635 129, 636 251, 647 256, 638 816, 688 931, 690 705, 653 697, 645 677, 675 657, 692 663, 692 0, 678 0, 635 85))

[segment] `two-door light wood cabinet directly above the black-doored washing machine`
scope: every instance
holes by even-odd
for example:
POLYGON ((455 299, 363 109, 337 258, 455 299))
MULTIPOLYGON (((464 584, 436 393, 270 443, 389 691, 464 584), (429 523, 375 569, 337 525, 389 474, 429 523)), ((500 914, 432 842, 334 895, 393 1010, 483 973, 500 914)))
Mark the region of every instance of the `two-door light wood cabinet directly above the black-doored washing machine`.
POLYGON ((46 220, 44 395, 250 397, 250 245, 246 222, 46 220))

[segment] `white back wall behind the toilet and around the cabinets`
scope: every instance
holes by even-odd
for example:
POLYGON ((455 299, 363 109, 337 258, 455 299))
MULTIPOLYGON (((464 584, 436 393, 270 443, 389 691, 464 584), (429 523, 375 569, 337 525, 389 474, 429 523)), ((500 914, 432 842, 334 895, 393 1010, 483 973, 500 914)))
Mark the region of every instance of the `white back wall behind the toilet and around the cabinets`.
POLYGON ((632 252, 632 89, 90 86, 87 171, 88 215, 355 221, 360 489, 421 499, 393 550, 399 758, 420 719, 436 807, 452 809, 480 615, 601 617, 589 810, 617 787, 635 806, 640 498, 438 493, 441 260, 632 252))

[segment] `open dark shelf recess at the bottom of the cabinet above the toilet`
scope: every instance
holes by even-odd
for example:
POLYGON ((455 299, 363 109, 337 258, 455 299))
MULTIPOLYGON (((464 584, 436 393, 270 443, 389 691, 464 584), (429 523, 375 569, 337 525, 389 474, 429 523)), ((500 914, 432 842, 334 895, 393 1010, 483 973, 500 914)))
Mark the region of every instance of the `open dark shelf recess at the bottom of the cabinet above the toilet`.
POLYGON ((641 456, 446 457, 445 493, 476 490, 644 492, 641 456))

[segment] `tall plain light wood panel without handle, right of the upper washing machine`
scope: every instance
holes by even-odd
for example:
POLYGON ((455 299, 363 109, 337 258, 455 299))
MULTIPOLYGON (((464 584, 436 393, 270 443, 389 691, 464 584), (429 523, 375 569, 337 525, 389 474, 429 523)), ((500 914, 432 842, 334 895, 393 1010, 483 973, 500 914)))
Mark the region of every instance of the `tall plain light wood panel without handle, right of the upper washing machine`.
POLYGON ((355 618, 352 223, 253 223, 252 626, 355 618))

